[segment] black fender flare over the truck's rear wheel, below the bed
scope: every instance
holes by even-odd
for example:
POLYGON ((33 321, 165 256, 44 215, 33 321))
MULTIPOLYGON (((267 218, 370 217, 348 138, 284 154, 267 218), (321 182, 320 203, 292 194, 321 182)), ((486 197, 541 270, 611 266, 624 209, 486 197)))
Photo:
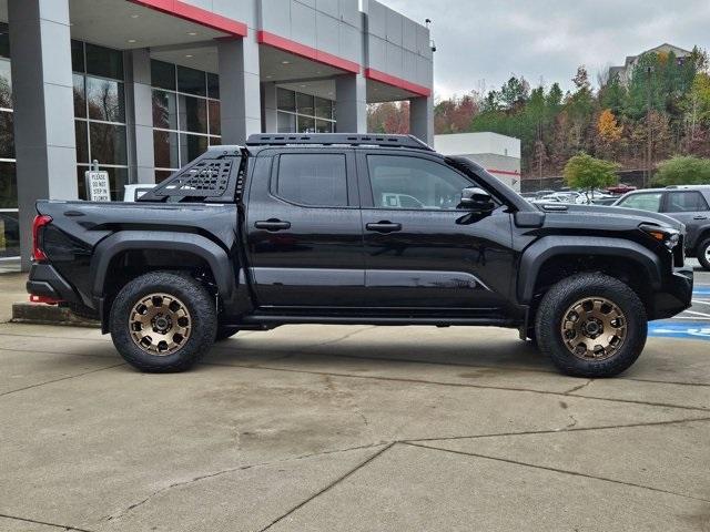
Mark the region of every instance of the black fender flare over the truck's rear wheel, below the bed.
POLYGON ((236 273, 226 252, 214 242, 193 233, 168 231, 122 231, 101 241, 91 259, 92 296, 104 297, 103 287, 111 260, 130 249, 161 249, 192 253, 204 259, 212 269, 220 297, 231 304, 236 295, 236 273))

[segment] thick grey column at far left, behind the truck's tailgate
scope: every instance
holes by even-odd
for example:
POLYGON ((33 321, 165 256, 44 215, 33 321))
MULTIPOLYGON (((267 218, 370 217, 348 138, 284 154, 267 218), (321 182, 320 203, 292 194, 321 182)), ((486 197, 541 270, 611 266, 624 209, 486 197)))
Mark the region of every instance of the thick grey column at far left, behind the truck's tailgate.
POLYGON ((69 0, 9 0, 22 268, 34 202, 78 197, 69 0))

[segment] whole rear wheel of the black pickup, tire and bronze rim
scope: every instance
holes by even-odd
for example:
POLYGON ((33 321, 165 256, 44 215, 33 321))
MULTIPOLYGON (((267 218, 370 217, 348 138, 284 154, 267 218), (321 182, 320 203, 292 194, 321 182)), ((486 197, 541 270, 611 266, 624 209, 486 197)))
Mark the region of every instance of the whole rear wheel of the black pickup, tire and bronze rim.
POLYGON ((214 299, 189 276, 145 274, 125 285, 111 307, 113 345, 134 368, 183 371, 214 342, 214 299))

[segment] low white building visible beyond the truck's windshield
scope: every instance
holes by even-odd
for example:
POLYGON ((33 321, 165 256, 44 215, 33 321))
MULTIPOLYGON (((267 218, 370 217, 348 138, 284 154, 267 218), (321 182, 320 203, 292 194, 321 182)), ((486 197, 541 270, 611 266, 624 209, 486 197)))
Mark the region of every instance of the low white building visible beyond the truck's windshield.
POLYGON ((436 135, 434 147, 443 155, 458 155, 480 164, 520 192, 520 139, 490 132, 453 133, 436 135))

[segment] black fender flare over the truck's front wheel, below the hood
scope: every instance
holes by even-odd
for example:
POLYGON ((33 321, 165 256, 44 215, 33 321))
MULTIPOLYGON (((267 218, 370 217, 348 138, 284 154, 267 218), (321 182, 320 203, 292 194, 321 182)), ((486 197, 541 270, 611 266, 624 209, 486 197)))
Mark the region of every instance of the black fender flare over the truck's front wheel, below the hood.
POLYGON ((643 268, 655 289, 660 288, 662 283, 658 255, 633 241, 595 236, 546 236, 531 244, 520 257, 516 290, 520 304, 529 305, 532 300, 535 283, 542 264, 560 255, 620 257, 643 268))

